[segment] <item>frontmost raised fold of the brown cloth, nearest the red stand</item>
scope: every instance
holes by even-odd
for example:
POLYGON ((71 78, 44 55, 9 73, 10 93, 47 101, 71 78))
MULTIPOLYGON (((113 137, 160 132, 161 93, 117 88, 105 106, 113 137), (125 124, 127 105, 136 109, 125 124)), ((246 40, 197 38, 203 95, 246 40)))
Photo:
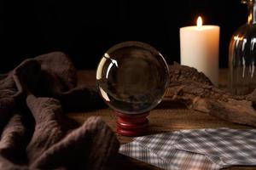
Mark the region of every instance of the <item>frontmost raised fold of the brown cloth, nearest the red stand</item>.
POLYGON ((116 156, 119 142, 108 126, 98 117, 91 117, 82 127, 44 151, 32 163, 33 168, 104 169, 116 156), (102 141, 102 139, 104 139, 102 141), (105 156, 105 157, 102 157, 105 156))

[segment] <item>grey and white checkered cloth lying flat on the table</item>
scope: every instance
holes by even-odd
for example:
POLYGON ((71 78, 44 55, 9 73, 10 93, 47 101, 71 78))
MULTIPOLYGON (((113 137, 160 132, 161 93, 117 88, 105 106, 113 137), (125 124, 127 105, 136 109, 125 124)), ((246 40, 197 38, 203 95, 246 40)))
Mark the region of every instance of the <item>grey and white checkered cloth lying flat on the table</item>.
POLYGON ((119 152, 163 169, 256 165, 256 129, 197 129, 135 138, 119 152))

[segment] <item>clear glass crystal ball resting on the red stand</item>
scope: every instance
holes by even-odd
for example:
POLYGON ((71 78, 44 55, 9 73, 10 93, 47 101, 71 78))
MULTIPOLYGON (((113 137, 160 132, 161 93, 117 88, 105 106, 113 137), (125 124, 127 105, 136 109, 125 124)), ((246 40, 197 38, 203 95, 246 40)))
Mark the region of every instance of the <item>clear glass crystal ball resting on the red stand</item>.
POLYGON ((166 60, 144 42, 121 42, 109 48, 96 71, 102 99, 125 114, 151 111, 160 104, 168 84, 166 60))

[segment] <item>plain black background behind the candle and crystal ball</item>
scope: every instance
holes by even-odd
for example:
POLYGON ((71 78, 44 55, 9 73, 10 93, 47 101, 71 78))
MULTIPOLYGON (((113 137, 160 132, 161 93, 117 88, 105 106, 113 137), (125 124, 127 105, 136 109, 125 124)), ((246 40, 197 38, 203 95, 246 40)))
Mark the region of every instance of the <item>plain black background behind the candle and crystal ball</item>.
POLYGON ((227 67, 230 37, 247 21, 240 0, 1 0, 0 71, 22 59, 55 50, 70 55, 79 69, 95 69, 118 42, 148 42, 168 63, 179 62, 179 28, 221 27, 220 66, 227 67))

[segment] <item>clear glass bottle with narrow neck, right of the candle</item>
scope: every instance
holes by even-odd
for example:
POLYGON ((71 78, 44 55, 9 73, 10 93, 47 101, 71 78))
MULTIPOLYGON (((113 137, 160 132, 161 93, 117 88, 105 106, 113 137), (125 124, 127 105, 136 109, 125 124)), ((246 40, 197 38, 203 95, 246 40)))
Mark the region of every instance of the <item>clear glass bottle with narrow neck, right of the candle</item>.
POLYGON ((247 24, 241 26, 230 41, 230 80, 232 94, 245 95, 256 88, 256 0, 241 0, 247 3, 247 24))

